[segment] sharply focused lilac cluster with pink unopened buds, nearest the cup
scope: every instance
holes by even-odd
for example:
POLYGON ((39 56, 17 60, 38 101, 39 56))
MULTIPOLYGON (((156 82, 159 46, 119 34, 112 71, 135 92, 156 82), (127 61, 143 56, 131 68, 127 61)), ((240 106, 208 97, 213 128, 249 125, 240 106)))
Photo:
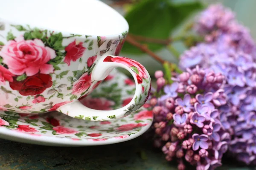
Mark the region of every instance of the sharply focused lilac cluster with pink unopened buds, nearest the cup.
POLYGON ((161 71, 155 77, 160 94, 150 99, 155 145, 162 147, 167 161, 177 160, 179 170, 185 169, 185 162, 197 170, 220 166, 230 142, 218 110, 227 102, 220 88, 224 76, 196 67, 173 77, 171 85, 166 85, 161 71))

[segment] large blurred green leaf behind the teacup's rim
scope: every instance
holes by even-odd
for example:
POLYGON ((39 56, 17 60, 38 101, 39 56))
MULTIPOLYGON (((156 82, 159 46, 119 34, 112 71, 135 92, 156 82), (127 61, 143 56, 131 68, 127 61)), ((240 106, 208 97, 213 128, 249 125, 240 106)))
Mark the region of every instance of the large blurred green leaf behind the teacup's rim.
MULTIPOLYGON (((193 12, 202 8, 203 5, 198 1, 174 4, 170 0, 140 0, 125 15, 125 19, 129 24, 130 34, 165 40, 180 23, 193 12), (143 20, 141 16, 143 16, 143 20)), ((156 43, 145 43, 145 45, 152 51, 164 47, 164 45, 156 43)), ((122 52, 143 53, 128 42, 125 42, 122 52)))

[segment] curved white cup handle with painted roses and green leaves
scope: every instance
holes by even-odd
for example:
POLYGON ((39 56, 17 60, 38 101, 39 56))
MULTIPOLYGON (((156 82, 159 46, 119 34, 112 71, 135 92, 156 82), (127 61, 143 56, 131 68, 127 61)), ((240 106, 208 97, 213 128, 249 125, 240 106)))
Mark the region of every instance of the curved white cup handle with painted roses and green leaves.
POLYGON ((151 79, 148 71, 139 62, 126 57, 112 55, 102 56, 92 71, 91 79, 92 81, 101 81, 108 77, 110 72, 117 67, 128 70, 135 80, 135 94, 128 105, 116 110, 101 111, 87 108, 76 100, 59 107, 57 111, 65 113, 71 117, 78 116, 80 119, 91 121, 119 119, 137 111, 147 101, 151 90, 151 79))

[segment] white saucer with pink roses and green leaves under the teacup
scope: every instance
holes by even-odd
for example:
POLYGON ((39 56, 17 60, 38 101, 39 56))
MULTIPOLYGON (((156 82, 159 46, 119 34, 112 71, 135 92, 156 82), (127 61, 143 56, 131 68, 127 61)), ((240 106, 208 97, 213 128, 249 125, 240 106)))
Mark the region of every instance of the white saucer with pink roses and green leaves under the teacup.
MULTIPOLYGON (((81 103, 97 110, 113 110, 128 104, 135 84, 114 70, 81 103)), ((153 114, 145 104, 135 113, 113 121, 74 119, 58 112, 20 114, 0 111, 0 138, 49 146, 89 146, 125 142, 143 134, 151 126, 153 114)))

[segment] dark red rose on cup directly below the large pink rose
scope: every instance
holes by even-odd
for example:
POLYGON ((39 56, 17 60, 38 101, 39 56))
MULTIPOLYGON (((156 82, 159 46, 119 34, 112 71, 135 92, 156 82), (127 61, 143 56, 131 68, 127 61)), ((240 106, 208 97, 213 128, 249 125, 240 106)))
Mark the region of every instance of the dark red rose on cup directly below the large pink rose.
POLYGON ((12 90, 19 91, 23 96, 41 94, 45 89, 52 86, 52 77, 49 74, 38 73, 20 82, 16 78, 14 78, 13 82, 10 82, 10 87, 12 90))

